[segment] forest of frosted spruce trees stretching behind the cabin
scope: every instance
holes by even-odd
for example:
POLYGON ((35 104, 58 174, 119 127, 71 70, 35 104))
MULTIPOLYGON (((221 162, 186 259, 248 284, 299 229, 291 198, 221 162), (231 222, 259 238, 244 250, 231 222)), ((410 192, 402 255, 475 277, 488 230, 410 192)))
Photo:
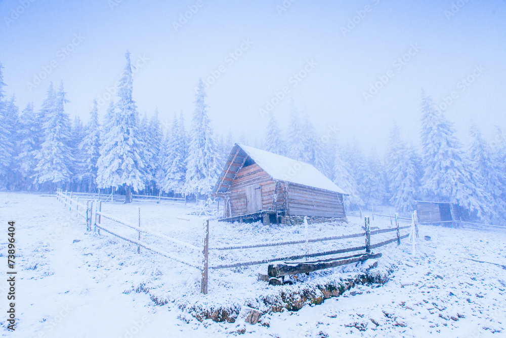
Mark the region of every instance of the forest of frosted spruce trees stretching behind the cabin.
MULTIPOLYGON (((29 102, 19 112, 14 94, 6 96, 0 64, 0 189, 97 192, 111 189, 131 200, 133 192, 169 196, 206 196, 216 183, 233 145, 232 134, 217 136, 208 117, 203 82, 185 128, 183 112, 163 130, 158 112, 140 115, 133 98, 130 54, 121 74, 117 98, 100 122, 97 102, 86 124, 65 112, 67 93, 51 83, 38 110, 29 102)), ((390 130, 384 159, 364 155, 356 141, 320 137, 304 110, 291 100, 283 132, 269 115, 266 151, 314 165, 350 194, 349 209, 391 205, 413 210, 415 200, 459 204, 483 221, 506 218, 506 142, 497 128, 493 142, 473 125, 471 144, 463 145, 453 124, 423 94, 421 147, 390 130)), ((247 143, 244 134, 240 143, 247 143)))

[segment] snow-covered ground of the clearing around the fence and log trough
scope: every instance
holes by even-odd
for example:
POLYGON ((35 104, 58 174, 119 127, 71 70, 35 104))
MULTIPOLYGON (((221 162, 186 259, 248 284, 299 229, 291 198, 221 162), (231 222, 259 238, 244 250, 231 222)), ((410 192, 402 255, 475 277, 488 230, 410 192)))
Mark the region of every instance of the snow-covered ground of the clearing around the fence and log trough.
MULTIPOLYGON (((180 204, 104 205, 104 211, 137 222, 153 231, 201 246, 203 218, 189 215, 190 206, 180 204), (179 219, 179 218, 184 219, 179 219), (189 220, 185 220, 189 219, 189 220)), ((264 316, 256 325, 244 323, 199 322, 182 311, 184 302, 240 302, 259 292, 272 292, 265 282, 257 281, 266 266, 211 270, 209 294, 202 296, 200 272, 163 256, 141 249, 112 236, 87 233, 84 219, 76 218, 54 197, 33 194, 0 193, 0 218, 7 224, 16 221, 16 289, 19 337, 158 337, 227 336, 244 332, 251 336, 428 336, 450 337, 501 336, 506 331, 506 270, 468 258, 506 265, 506 234, 476 230, 420 227, 416 252, 404 240, 379 248, 380 265, 395 266, 385 285, 359 285, 342 296, 327 299, 319 306, 304 306, 298 312, 284 311, 264 316), (425 241, 424 236, 431 236, 425 241), (150 289, 149 293, 142 292, 150 289), (153 299, 151 299, 153 298, 153 299), (154 302, 168 303, 156 305, 154 302)), ((356 233, 359 219, 350 223, 311 224, 310 237, 356 233)), ((4 225, 6 225, 4 224, 4 225)), ((111 229, 134 238, 135 232, 111 229)), ((371 226, 390 227, 388 219, 377 219, 371 226)), ((303 239, 304 227, 266 228, 261 224, 211 222, 210 246, 303 239)), ((373 243, 393 233, 373 237, 373 243)), ((143 235, 144 236, 144 235, 143 235)), ((144 241, 200 264, 200 253, 178 249, 170 243, 144 241)), ((343 247, 359 244, 362 238, 340 242, 343 247)), ((7 234, 0 238, 1 259, 7 260, 7 234)), ((335 242, 318 250, 335 248, 335 242)), ((310 250, 315 247, 310 247, 310 250)), ((304 245, 243 251, 216 252, 210 264, 267 258, 270 255, 304 253, 304 245)), ((5 262, 6 264, 7 262, 5 262)), ((333 269, 341 276, 350 267, 333 269)), ((352 269, 353 270, 353 269, 352 269)), ((5 271, 5 270, 4 270, 5 271)), ((322 274, 309 276, 323 278, 322 274)), ((326 273, 328 277, 328 272, 326 273)), ((285 287, 285 286, 283 286, 285 287)), ((3 299, 0 312, 6 313, 6 279, 0 282, 3 299)))

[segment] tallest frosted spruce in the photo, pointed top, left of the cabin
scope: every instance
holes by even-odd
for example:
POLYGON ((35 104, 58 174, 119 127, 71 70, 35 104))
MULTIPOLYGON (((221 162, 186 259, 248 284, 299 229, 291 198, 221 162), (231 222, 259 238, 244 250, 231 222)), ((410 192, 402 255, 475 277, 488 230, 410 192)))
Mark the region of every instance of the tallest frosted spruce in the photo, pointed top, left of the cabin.
POLYGON ((125 54, 126 65, 119 80, 118 101, 108 114, 104 142, 98 159, 99 188, 123 187, 125 202, 132 202, 132 191, 144 189, 151 179, 145 161, 145 144, 139 132, 139 113, 132 98, 133 80, 130 53, 125 54))

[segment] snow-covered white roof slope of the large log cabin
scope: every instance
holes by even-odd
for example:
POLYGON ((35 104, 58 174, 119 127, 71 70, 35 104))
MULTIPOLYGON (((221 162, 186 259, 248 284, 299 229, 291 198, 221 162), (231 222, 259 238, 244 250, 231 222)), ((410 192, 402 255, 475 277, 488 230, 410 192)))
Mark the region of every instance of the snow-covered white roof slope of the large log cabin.
POLYGON ((307 185, 348 195, 339 186, 308 163, 269 153, 254 147, 237 144, 275 180, 307 185))

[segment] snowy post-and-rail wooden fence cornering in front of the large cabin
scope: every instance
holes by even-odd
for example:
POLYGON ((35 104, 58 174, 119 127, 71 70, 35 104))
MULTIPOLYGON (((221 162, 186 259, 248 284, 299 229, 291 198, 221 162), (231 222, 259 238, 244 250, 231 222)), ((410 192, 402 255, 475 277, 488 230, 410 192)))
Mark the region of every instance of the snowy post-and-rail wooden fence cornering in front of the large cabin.
MULTIPOLYGON (((75 193, 74 193, 75 194, 75 193)), ((130 243, 133 243, 137 245, 137 252, 140 254, 141 250, 140 248, 145 248, 149 251, 152 251, 154 253, 160 254, 162 256, 165 256, 167 258, 173 259, 175 261, 180 262, 181 264, 193 267, 195 269, 198 269, 202 273, 202 280, 201 280, 201 292, 204 294, 207 294, 208 289, 208 278, 209 278, 209 269, 228 269, 228 268, 236 268, 236 267, 244 267, 244 266, 251 266, 251 265, 260 265, 260 264, 267 264, 274 261, 286 261, 286 260, 297 260, 302 258, 309 258, 309 257, 319 257, 319 256, 326 256, 326 255, 334 255, 334 254, 340 254, 340 253, 346 253, 346 252, 353 252, 353 251, 362 251, 365 250, 366 253, 370 253, 372 249, 397 242, 397 245, 401 244, 401 240, 404 238, 407 238, 410 236, 410 234, 415 234, 416 237, 418 237, 418 227, 417 227, 417 219, 416 219, 416 212, 413 213, 412 217, 412 223, 408 226, 399 226, 399 219, 400 217, 398 214, 395 214, 395 228, 387 228, 387 229, 378 229, 378 230, 372 230, 370 229, 370 218, 365 217, 365 231, 361 233, 356 234, 349 234, 349 235, 340 235, 340 236, 330 236, 330 237, 320 237, 320 238, 308 238, 307 232, 306 232, 306 239, 303 240, 294 240, 294 241, 279 241, 279 242, 269 242, 269 243, 258 243, 258 244, 246 244, 246 245, 232 245, 232 246, 217 246, 217 247, 209 247, 209 220, 206 220, 204 222, 204 241, 203 241, 203 250, 201 251, 200 248, 198 248, 195 245, 185 243, 181 240, 178 240, 176 238, 172 238, 170 236, 166 236, 164 234, 151 231, 147 229, 146 227, 141 226, 141 211, 140 208, 138 208, 138 221, 137 224, 132 224, 128 221, 122 220, 118 217, 109 215, 102 211, 102 202, 104 201, 91 201, 87 200, 86 204, 79 202, 79 197, 73 198, 73 193, 68 194, 68 192, 63 193, 62 190, 58 190, 56 193, 57 199, 64 204, 65 207, 69 208, 69 211, 75 211, 77 215, 86 218, 86 226, 87 231, 96 231, 100 235, 100 230, 105 231, 106 233, 115 236, 117 238, 120 238, 124 241, 128 241, 130 243), (120 226, 124 226, 130 229, 133 229, 137 232, 137 238, 126 238, 126 236, 120 235, 116 233, 115 231, 109 229, 108 227, 104 226, 102 224, 102 217, 105 219, 108 219, 109 221, 120 224, 120 226), (404 234, 401 235, 400 231, 404 229, 411 228, 410 234, 404 234), (390 232, 396 232, 396 237, 392 239, 385 240, 383 242, 379 243, 371 243, 371 236, 378 235, 378 234, 384 234, 384 233, 390 233, 390 232), (168 242, 171 242, 172 245, 176 245, 178 248, 186 248, 191 249, 194 252, 198 252, 198 255, 202 254, 202 265, 195 264, 194 262, 187 261, 179 256, 175 256, 171 253, 165 252, 164 250, 161 250, 157 247, 154 247, 152 244, 145 243, 144 241, 141 241, 141 234, 149 234, 152 235, 158 239, 163 239, 168 242), (350 239, 350 238, 360 238, 363 237, 365 239, 364 245, 359 245, 356 247, 351 248, 344 248, 344 249, 336 249, 336 250, 328 250, 328 251, 322 251, 322 252, 314 252, 309 253, 309 243, 319 243, 319 242, 325 242, 325 241, 338 241, 338 240, 344 240, 344 239, 350 239), (209 250, 212 251, 223 251, 223 250, 243 250, 243 249, 251 249, 251 248, 262 248, 262 247, 275 247, 275 246, 286 246, 286 245, 296 245, 296 244, 306 244, 306 253, 300 254, 300 255, 291 255, 291 256, 285 256, 285 257, 271 257, 256 261, 249 261, 249 262, 237 262, 235 264, 228 264, 228 265, 215 265, 210 266, 209 265, 209 250)))

